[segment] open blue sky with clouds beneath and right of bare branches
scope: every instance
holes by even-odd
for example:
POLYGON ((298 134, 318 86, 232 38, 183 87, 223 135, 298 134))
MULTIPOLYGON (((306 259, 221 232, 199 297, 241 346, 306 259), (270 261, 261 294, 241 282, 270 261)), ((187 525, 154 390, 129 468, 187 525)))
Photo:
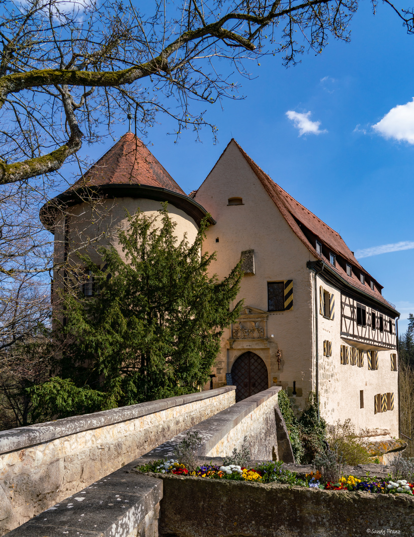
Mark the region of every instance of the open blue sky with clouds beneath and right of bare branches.
MULTIPOLYGON (((332 39, 322 54, 304 54, 295 67, 282 67, 278 56, 260 66, 252 61, 253 80, 234 77, 245 99, 207 110, 219 128, 216 145, 207 129, 201 143, 192 132, 174 143, 162 117, 143 141, 190 192, 234 137, 275 182, 342 235, 401 312, 402 333, 414 313, 414 35, 385 5, 373 16, 369 2, 361 2, 351 27, 350 43, 332 39), (377 249, 383 245, 391 246, 377 249)), ((105 147, 90 148, 91 156, 105 147)))

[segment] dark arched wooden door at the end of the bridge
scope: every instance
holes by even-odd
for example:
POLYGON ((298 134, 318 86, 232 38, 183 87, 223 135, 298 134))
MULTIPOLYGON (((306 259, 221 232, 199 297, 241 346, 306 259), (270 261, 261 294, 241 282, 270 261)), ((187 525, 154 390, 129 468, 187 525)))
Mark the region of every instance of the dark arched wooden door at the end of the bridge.
POLYGON ((245 352, 237 358, 231 368, 231 378, 237 387, 236 403, 268 388, 266 364, 254 352, 245 352))

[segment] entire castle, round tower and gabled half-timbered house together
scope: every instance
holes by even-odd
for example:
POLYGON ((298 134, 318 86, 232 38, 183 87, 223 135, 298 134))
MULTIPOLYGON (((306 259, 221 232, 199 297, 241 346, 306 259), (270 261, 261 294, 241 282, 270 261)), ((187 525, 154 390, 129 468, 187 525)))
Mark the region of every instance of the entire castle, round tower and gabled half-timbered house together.
POLYGON ((399 436, 398 312, 340 235, 235 140, 186 195, 134 134, 122 136, 41 209, 43 224, 55 233, 55 263, 78 250, 99 263, 93 239, 117 247, 126 209, 152 215, 161 201, 168 201, 178 238, 186 233, 193 240, 202 217, 212 215, 204 243, 205 251, 217 252, 212 273, 223 278, 242 260, 244 308, 222 337, 213 387, 234 383, 242 400, 282 386, 297 413, 314 392, 329 424, 351 418, 357 429, 399 436))

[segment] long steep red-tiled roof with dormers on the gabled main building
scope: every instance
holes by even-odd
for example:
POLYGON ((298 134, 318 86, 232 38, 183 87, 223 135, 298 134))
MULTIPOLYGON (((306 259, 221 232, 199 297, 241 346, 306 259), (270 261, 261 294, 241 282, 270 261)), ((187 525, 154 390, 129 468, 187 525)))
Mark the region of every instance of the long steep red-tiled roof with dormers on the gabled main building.
MULTIPOLYGON (((319 219, 315 214, 311 213, 306 207, 296 201, 290 194, 288 194, 283 188, 276 184, 268 175, 265 173, 252 158, 249 157, 247 153, 242 149, 241 146, 236 142, 236 140, 231 139, 226 149, 224 149, 223 154, 226 153, 227 148, 231 143, 235 143, 240 153, 245 158, 246 162, 249 164, 252 171, 255 173, 260 183, 262 183, 268 195, 273 200, 274 204, 279 209, 282 216, 284 216, 286 222, 289 224, 290 228, 294 231, 297 237, 303 242, 303 244, 308 248, 308 250, 317 258, 322 260, 324 263, 327 263, 329 269, 336 272, 340 278, 345 280, 348 285, 358 289, 359 291, 364 292, 365 294, 372 296, 373 299, 382 302, 387 308, 392 308, 395 310, 393 304, 390 304, 384 297, 381 295, 382 285, 380 285, 372 276, 369 274, 364 267, 362 267, 357 258, 353 255, 353 252, 345 244, 343 238, 332 228, 330 228, 325 222, 319 219), (309 233, 310 232, 310 233, 309 233), (345 260, 346 263, 350 264, 353 268, 356 268, 357 271, 360 271, 364 276, 368 276, 369 280, 374 282, 374 290, 371 289, 370 281, 365 281, 365 284, 359 280, 359 277, 348 276, 346 273, 346 268, 340 266, 339 263, 336 263, 335 266, 331 265, 329 259, 327 259, 323 253, 319 253, 316 250, 316 242, 314 238, 324 245, 325 250, 333 253, 339 258, 345 260)), ((223 156, 223 154, 221 156, 223 156)), ((221 157, 220 157, 221 158, 221 157)), ((220 159, 219 159, 220 160, 220 159)), ((196 195, 196 193, 194 194, 196 195)))

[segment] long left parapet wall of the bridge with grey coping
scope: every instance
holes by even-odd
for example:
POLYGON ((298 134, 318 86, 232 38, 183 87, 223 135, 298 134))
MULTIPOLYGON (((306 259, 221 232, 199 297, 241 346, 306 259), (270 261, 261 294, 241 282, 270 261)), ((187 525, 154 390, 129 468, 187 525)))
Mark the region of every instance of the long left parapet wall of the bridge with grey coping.
POLYGON ((235 387, 0 432, 0 535, 235 402, 235 387))

